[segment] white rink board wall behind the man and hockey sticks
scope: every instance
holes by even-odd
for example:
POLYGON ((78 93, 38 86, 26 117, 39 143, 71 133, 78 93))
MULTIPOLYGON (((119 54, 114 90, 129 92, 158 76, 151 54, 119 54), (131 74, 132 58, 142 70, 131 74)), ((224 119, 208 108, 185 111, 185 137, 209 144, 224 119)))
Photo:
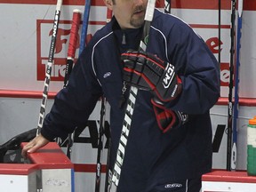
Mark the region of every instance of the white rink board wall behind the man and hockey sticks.
MULTIPOLYGON (((63 5, 60 13, 60 21, 71 20, 73 9, 84 11, 84 6, 63 5)), ((52 24, 44 22, 38 28, 41 32, 40 46, 36 43, 38 30, 36 30, 36 20, 52 20, 54 16, 55 5, 49 4, 1 4, 0 6, 0 89, 6 90, 24 90, 39 91, 43 90, 43 81, 36 80, 37 75, 37 49, 40 47, 41 54, 47 57, 50 46, 49 31, 52 24), (15 14, 13 13, 15 12, 15 14)), ((229 11, 222 11, 221 24, 230 25, 229 11)), ((172 14, 177 15, 182 20, 188 22, 196 33, 204 38, 204 41, 218 36, 218 28, 212 26, 218 25, 218 11, 216 10, 193 10, 193 9, 172 9, 172 14), (193 16, 191 16, 193 15, 193 16), (204 15, 204 17, 202 17, 204 15), (208 26, 203 28, 201 26, 208 26)), ((106 7, 92 7, 90 20, 102 22, 106 20, 106 7)), ((254 75, 256 71, 256 12, 246 11, 243 15, 242 30, 242 50, 240 67, 240 90, 241 97, 256 98, 254 75)), ((88 33, 94 34, 102 26, 91 25, 88 33)), ((60 22, 60 28, 70 29, 70 24, 60 22)), ((80 31, 81 32, 81 31, 80 31)), ((221 52, 221 63, 229 61, 230 36, 229 29, 221 29, 221 40, 223 42, 221 52)), ((62 36, 68 39, 68 36, 62 36)), ((64 44, 61 52, 55 55, 56 58, 64 59, 68 50, 68 44, 64 44)), ((78 50, 76 50, 76 53, 78 50)), ((214 54, 218 58, 218 54, 214 54)), ((76 54, 77 56, 77 54, 76 54)), ((53 66, 53 72, 60 70, 58 63, 53 66), (55 68, 55 69, 54 69, 55 68)), ((62 68, 63 69, 63 68, 62 68)), ((227 69, 221 69, 221 83, 228 84, 227 69), (225 76, 226 74, 226 76, 225 76)), ((58 71, 57 71, 58 72, 58 71)), ((56 73, 61 76, 60 73, 56 73)), ((63 71, 62 71, 63 72, 63 71)), ((62 73, 63 75, 63 73, 62 73)), ((44 74, 42 75, 44 76, 44 74)), ((57 76, 58 77, 58 76, 57 76)), ((63 86, 61 81, 51 81, 50 92, 58 92, 63 86)), ((228 96, 228 86, 221 86, 221 96, 228 96)), ((0 98, 0 143, 11 139, 20 132, 28 131, 37 126, 39 107, 41 100, 35 99, 12 99, 0 98)), ((47 102, 47 110, 52 106, 52 100, 47 102)), ((214 136, 218 124, 227 124, 228 106, 214 106, 211 110, 212 133, 214 136)), ((109 115, 109 108, 108 108, 109 115)), ((238 145, 237 145, 237 169, 246 169, 246 124, 248 119, 256 115, 255 107, 241 107, 239 111, 238 122, 238 145)), ((93 111, 91 120, 100 119, 100 103, 93 111)), ((83 132, 84 136, 90 137, 88 130, 83 132)), ((105 138, 106 139, 106 138, 105 138)), ((213 154, 213 168, 226 167, 227 154, 227 134, 224 134, 218 154, 213 154)), ((75 143, 72 148, 72 161, 75 164, 95 164, 97 158, 97 149, 92 148, 88 143, 75 143)), ((102 164, 106 164, 107 150, 103 150, 102 164)), ((95 185, 95 173, 75 172, 76 192, 84 192, 84 188, 93 191, 95 185)), ((105 174, 102 174, 101 188, 104 187, 105 174)))

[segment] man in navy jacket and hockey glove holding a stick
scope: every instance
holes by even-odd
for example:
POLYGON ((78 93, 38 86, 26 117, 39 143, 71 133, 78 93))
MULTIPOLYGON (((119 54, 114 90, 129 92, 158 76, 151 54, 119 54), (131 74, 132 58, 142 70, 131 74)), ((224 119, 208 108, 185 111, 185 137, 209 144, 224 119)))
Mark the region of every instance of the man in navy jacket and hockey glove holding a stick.
POLYGON ((66 138, 104 94, 111 106, 113 167, 132 84, 139 92, 117 191, 200 190, 201 175, 212 168, 209 109, 220 96, 220 69, 188 24, 157 9, 147 50, 137 52, 147 3, 105 0, 115 16, 84 49, 23 156, 56 137, 66 138))

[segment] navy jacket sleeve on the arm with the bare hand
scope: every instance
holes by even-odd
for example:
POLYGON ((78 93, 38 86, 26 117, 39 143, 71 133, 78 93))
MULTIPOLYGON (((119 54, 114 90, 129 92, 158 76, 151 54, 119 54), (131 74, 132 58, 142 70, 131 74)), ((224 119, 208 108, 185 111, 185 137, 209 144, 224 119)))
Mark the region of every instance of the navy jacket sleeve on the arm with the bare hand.
POLYGON ((91 56, 85 52, 77 60, 67 87, 58 92, 45 116, 41 133, 48 140, 66 138, 76 126, 84 125, 100 98, 101 87, 92 70, 91 56))

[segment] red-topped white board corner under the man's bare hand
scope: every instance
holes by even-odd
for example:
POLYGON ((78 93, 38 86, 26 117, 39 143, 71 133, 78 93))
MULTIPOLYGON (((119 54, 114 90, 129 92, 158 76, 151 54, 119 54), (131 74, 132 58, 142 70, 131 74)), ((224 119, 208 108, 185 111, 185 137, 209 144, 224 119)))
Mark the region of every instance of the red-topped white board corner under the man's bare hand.
MULTIPOLYGON (((21 147, 25 143, 21 144, 21 147)), ((75 192, 74 164, 55 142, 28 154, 30 164, 0 164, 2 192, 75 192)))

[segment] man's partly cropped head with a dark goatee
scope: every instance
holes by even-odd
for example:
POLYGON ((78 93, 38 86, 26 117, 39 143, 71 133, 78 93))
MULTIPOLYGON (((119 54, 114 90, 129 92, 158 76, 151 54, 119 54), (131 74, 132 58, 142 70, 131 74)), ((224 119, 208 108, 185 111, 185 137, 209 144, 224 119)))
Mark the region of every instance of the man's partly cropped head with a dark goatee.
POLYGON ((114 12, 121 28, 140 28, 144 23, 148 0, 104 0, 114 12))

